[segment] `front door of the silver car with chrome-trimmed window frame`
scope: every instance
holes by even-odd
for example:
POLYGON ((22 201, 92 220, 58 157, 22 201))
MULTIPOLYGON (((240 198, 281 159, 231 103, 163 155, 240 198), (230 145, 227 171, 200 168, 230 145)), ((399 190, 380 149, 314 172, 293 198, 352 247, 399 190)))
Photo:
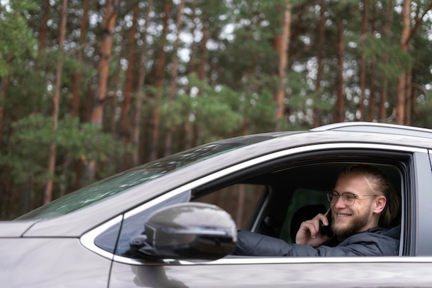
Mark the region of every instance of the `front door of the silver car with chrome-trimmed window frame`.
MULTIPOLYGON (((415 212, 418 199, 425 197, 418 191, 424 189, 425 180, 420 181, 421 187, 418 183, 423 175, 420 170, 426 165, 430 172, 426 150, 393 145, 339 143, 279 151, 210 174, 124 214, 119 245, 112 262, 109 287, 404 287, 413 285, 414 282, 432 282, 431 274, 427 273, 432 269, 431 259, 415 257, 418 251, 431 255, 423 240, 416 238, 417 234, 424 234, 416 230, 416 225, 420 223, 421 229, 426 227, 424 221, 417 220, 415 212), (149 260, 138 258, 128 250, 130 237, 142 233, 146 216, 157 207, 162 207, 168 202, 188 201, 190 198, 199 201, 204 195, 244 183, 255 183, 265 187, 259 200, 253 203, 253 212, 248 214, 250 219, 246 225, 247 229, 284 237, 284 227, 291 219, 289 215, 293 214, 288 211, 297 208, 290 207, 295 193, 302 193, 302 189, 331 185, 329 178, 337 175, 337 172, 327 170, 351 163, 372 163, 397 172, 395 185, 400 189, 402 198, 399 216, 402 225, 400 255, 409 257, 226 256, 219 260, 202 262, 149 260), (318 168, 322 170, 323 175, 320 175, 318 168), (309 174, 305 175, 308 171, 309 174), (300 187, 302 185, 306 188, 300 187), (302 189, 299 190, 299 187, 302 189), (422 277, 416 278, 418 275, 422 277)), ((430 175, 428 177, 429 180, 426 182, 431 181, 430 175)))

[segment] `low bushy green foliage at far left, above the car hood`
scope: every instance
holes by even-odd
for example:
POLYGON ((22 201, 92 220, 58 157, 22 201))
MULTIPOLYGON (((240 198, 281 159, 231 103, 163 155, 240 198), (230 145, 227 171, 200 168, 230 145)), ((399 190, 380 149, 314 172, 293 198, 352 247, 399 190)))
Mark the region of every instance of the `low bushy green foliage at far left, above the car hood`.
MULTIPOLYGON (((1 154, 0 166, 8 167, 8 173, 16 185, 26 183, 29 176, 42 184, 49 176, 46 166, 50 143, 57 145, 58 155, 68 154, 75 161, 84 163, 104 163, 124 153, 124 148, 112 136, 101 132, 95 125, 82 124, 78 119, 66 116, 53 132, 50 117, 30 114, 12 124, 12 134, 7 142, 8 152, 1 154)), ((60 168, 57 167, 57 172, 60 168)), ((103 165, 101 170, 104 170, 103 165)), ((61 175, 56 174, 55 177, 61 175)))

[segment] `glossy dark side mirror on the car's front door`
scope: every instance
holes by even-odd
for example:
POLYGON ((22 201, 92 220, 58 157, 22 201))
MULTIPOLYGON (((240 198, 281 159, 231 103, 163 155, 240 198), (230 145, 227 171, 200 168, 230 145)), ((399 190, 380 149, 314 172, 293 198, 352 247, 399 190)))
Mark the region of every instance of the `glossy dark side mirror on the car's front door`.
POLYGON ((216 260, 231 254, 237 243, 230 214, 205 203, 164 207, 144 227, 145 234, 130 241, 132 251, 144 258, 216 260))

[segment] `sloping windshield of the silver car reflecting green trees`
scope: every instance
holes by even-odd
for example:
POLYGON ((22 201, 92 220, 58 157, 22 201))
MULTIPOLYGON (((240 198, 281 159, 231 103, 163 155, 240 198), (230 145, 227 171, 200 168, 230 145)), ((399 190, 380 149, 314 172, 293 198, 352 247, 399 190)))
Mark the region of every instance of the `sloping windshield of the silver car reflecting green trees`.
POLYGON ((52 201, 48 205, 44 205, 31 212, 28 212, 27 214, 17 218, 17 220, 50 218, 67 214, 77 209, 99 203, 100 201, 103 201, 107 198, 125 192, 131 187, 145 183, 155 178, 159 178, 165 174, 176 171, 190 164, 204 161, 207 158, 238 149, 239 147, 265 141, 270 138, 272 137, 239 137, 231 139, 230 142, 221 141, 209 143, 190 150, 186 150, 184 152, 173 154, 157 161, 137 166, 115 176, 108 177, 102 181, 98 181, 92 185, 81 188, 75 192, 52 201))

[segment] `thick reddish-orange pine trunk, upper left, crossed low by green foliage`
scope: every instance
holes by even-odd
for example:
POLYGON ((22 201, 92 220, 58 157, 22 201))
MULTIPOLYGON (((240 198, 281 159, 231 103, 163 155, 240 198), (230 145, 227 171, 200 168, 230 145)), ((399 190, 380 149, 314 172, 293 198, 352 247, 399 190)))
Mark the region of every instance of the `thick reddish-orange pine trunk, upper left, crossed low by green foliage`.
MULTIPOLYGON (((118 0, 107 0, 105 3, 105 16, 102 25, 102 37, 99 51, 100 59, 97 68, 98 83, 94 96, 95 103, 90 116, 90 121, 99 127, 102 127, 102 121, 104 119, 104 101, 106 99, 108 74, 110 71, 112 34, 114 33, 115 21, 117 19, 117 6, 118 0)), ((86 185, 89 181, 92 181, 95 178, 95 167, 95 159, 89 159, 86 161, 83 185, 86 185)))

